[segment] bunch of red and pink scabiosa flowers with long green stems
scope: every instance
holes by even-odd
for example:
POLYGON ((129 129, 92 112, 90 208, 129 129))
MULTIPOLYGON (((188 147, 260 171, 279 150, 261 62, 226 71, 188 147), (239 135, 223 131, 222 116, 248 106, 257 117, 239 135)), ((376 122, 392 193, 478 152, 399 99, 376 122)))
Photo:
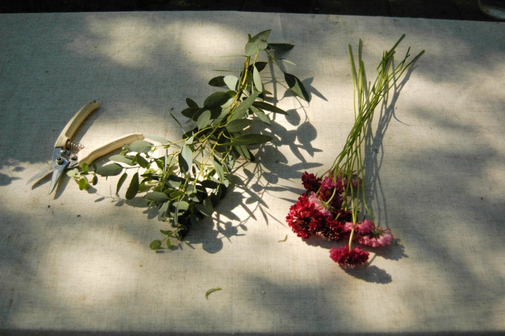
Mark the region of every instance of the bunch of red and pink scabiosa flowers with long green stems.
POLYGON ((305 192, 290 207, 286 216, 288 225, 301 238, 319 236, 331 241, 345 239, 348 243, 344 247, 330 250, 330 258, 343 267, 354 267, 368 260, 369 252, 359 246, 353 248, 353 244, 376 248, 389 245, 393 238, 391 229, 376 224, 367 206, 361 146, 367 131, 371 129, 375 108, 387 95, 390 85, 401 78, 424 53, 422 51, 407 63, 409 49, 403 60, 394 65, 394 50, 403 37, 405 35, 383 53, 377 78, 371 87, 367 83, 361 59, 362 41, 359 43, 358 66, 349 45, 355 97, 354 126, 342 151, 325 174, 320 177, 308 172, 302 174, 301 183, 305 192), (358 220, 359 213, 363 218, 361 221, 358 220))

